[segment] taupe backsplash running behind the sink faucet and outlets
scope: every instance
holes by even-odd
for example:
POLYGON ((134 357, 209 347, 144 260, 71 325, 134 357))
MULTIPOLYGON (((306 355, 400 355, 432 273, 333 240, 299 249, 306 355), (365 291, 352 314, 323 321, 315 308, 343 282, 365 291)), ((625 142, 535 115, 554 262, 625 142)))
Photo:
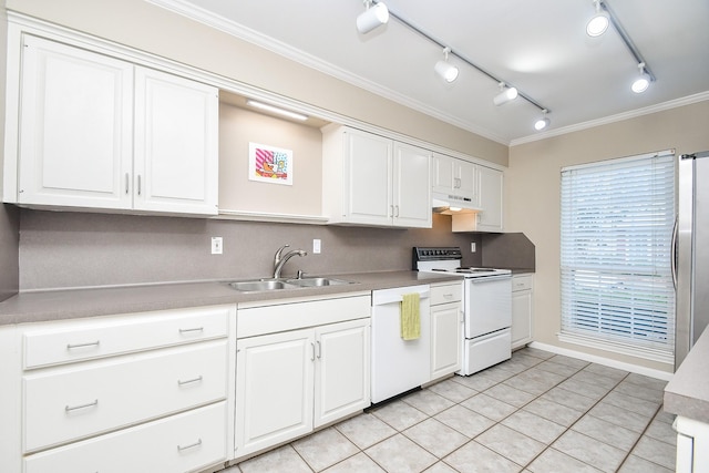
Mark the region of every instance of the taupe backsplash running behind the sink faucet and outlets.
POLYGON ((288 261, 284 275, 408 270, 413 246, 460 246, 463 263, 480 266, 490 238, 453 234, 450 217, 435 214, 431 229, 387 229, 20 212, 20 290, 268 277, 274 253, 285 244, 308 255, 288 261), (210 254, 213 236, 223 237, 223 255, 210 254), (315 238, 321 240, 319 255, 312 254, 315 238))

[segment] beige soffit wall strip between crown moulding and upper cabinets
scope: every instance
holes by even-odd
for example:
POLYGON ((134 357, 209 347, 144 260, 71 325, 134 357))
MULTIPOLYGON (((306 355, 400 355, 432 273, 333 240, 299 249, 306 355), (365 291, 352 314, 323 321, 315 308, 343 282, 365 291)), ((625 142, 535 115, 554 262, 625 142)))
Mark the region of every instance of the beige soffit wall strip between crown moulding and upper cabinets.
POLYGON ((383 100, 144 0, 7 0, 7 7, 319 109, 507 165, 508 150, 504 144, 383 100))

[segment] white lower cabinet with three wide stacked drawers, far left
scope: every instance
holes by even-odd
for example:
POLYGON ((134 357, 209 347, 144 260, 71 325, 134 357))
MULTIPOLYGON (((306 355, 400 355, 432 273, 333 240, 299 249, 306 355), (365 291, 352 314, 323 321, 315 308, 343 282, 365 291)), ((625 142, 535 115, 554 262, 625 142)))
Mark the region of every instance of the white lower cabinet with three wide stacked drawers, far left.
POLYGON ((179 473, 227 461, 235 313, 0 327, 0 471, 179 473))

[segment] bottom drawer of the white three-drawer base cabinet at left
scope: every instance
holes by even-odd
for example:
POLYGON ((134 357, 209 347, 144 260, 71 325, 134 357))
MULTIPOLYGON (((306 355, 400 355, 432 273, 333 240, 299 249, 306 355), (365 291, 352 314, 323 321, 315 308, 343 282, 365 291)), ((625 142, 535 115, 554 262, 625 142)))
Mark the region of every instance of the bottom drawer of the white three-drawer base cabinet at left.
POLYGON ((226 461, 226 401, 29 455, 25 473, 187 472, 226 461))

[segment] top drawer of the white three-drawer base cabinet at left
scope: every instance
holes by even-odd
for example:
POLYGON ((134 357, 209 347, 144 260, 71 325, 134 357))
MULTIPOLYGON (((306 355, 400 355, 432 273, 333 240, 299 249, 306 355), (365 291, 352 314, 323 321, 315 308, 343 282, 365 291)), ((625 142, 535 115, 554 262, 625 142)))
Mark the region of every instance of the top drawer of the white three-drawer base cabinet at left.
POLYGON ((24 333, 24 369, 226 337, 232 306, 69 320, 24 333))

